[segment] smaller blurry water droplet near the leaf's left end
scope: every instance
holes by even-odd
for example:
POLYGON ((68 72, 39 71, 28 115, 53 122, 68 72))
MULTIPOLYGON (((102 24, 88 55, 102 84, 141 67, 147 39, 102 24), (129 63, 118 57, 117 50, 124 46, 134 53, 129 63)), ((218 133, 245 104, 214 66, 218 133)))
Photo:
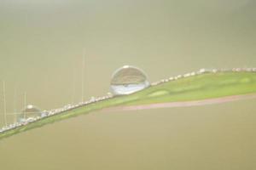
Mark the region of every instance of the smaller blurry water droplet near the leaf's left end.
POLYGON ((23 122, 26 121, 28 118, 36 118, 41 116, 42 111, 35 105, 26 105, 26 107, 21 111, 19 114, 18 121, 23 122))

